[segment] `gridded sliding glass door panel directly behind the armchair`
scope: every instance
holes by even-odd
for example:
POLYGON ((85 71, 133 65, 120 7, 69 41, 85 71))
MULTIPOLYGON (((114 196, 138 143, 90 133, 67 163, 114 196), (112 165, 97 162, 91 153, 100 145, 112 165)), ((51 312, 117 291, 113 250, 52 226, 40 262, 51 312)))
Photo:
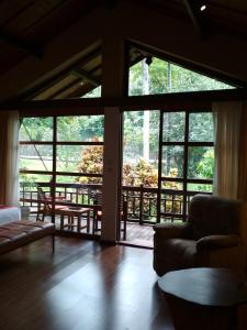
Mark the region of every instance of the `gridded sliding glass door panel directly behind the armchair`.
POLYGON ((211 112, 161 111, 160 219, 184 219, 194 194, 211 194, 214 129, 211 112))

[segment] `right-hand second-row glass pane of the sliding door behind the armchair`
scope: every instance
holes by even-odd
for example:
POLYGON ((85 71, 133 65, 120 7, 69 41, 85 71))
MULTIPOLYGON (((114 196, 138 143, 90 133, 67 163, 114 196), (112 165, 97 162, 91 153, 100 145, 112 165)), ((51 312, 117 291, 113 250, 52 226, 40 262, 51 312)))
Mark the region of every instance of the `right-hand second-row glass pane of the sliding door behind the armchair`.
POLYGON ((189 147, 188 177, 213 179, 214 173, 214 147, 191 146, 189 147))

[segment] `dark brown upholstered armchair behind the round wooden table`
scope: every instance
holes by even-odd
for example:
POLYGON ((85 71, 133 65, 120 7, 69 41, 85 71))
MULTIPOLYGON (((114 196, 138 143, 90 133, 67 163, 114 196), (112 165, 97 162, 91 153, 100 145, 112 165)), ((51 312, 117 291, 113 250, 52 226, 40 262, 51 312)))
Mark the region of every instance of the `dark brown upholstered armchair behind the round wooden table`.
POLYGON ((154 270, 159 276, 206 266, 243 271, 246 228, 244 202, 195 195, 187 222, 154 226, 154 270))

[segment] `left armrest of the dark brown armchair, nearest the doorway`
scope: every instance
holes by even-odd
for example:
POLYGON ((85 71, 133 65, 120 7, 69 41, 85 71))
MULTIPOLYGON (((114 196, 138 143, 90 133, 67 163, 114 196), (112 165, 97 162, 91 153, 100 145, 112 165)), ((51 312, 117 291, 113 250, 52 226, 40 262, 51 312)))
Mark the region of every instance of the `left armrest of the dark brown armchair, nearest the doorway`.
POLYGON ((192 237, 192 227, 183 223, 157 223, 154 226, 157 239, 169 240, 175 238, 189 239, 192 237))

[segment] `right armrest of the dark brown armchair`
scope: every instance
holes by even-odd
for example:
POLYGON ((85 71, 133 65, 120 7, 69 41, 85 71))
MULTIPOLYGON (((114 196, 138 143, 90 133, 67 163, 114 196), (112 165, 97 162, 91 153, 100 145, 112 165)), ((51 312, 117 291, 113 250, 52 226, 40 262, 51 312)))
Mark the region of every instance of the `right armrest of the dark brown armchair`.
POLYGON ((237 246, 240 244, 238 235, 209 235, 197 242, 197 250, 217 250, 224 248, 237 246))

